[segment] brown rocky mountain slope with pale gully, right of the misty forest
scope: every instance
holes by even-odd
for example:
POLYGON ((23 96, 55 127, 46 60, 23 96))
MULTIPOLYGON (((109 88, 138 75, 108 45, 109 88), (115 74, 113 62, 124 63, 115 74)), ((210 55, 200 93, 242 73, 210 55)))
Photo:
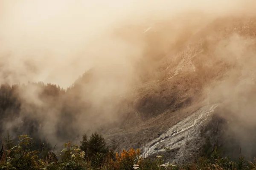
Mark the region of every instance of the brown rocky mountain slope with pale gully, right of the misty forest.
POLYGON ((143 156, 165 153, 167 160, 176 162, 200 155, 207 134, 216 134, 215 128, 201 132, 212 124, 218 104, 228 98, 214 89, 230 75, 234 81, 241 78, 246 69, 241 63, 253 61, 255 32, 256 17, 224 17, 192 36, 182 51, 161 60, 157 76, 135 89, 132 126, 109 130, 108 142, 115 143, 116 150, 140 147, 143 156), (245 42, 248 45, 237 51, 245 42))

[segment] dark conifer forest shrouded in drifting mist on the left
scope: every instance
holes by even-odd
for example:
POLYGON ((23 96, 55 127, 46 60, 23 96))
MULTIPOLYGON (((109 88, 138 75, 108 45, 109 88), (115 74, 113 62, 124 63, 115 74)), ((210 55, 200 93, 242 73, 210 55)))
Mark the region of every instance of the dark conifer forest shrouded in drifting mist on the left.
MULTIPOLYGON (((62 141, 79 141, 79 134, 96 130, 95 127, 100 125, 93 127, 91 121, 95 120, 97 111, 94 109, 93 112, 90 98, 85 100, 84 93, 81 93, 83 89, 79 86, 80 83, 88 83, 89 79, 90 73, 86 72, 67 89, 43 82, 2 84, 0 142, 6 140, 7 134, 14 141, 17 141, 18 135, 26 134, 34 139, 36 149, 40 143, 55 145, 62 141)), ((97 120, 93 122, 98 124, 97 120)))

